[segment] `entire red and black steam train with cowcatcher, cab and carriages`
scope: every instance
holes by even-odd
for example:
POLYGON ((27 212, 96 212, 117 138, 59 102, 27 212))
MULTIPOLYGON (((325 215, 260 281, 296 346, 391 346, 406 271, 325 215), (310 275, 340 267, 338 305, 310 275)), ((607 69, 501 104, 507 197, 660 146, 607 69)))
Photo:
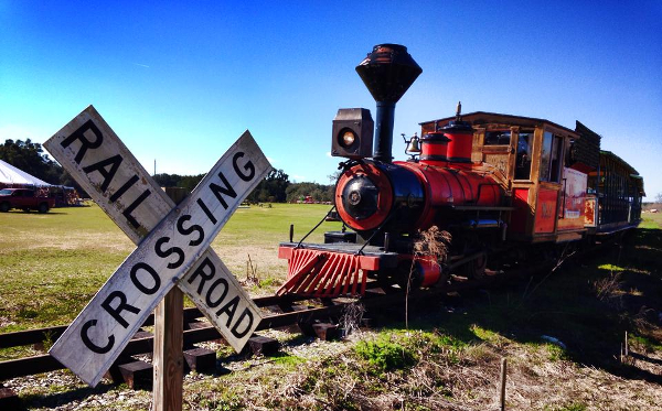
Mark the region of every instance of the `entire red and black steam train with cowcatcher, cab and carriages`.
POLYGON ((403 134, 409 159, 393 161, 395 105, 423 71, 405 46, 380 44, 356 72, 377 107, 374 121, 365 108, 333 120, 331 154, 346 159, 334 196, 343 229, 324 244, 280 245, 279 294, 362 295, 369 279, 442 286, 639 224, 643 180, 580 122, 462 115, 458 104, 455 116, 421 122, 420 137, 403 134), (447 232, 442 256, 415 250, 431 227, 447 232))

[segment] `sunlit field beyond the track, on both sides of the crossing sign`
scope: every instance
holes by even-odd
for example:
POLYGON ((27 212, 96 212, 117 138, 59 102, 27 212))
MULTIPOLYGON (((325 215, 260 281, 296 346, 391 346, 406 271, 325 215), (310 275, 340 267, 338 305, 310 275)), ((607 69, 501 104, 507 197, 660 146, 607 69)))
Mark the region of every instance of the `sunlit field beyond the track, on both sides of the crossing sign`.
MULTIPOLYGON (((260 279, 254 294, 273 292, 285 279, 278 244, 306 235, 327 205, 274 204, 239 208, 212 247, 242 280, 248 256, 260 279)), ((323 223, 311 240, 339 229, 323 223)), ((0 213, 0 333, 71 322, 135 246, 96 205, 47 214, 0 213)))

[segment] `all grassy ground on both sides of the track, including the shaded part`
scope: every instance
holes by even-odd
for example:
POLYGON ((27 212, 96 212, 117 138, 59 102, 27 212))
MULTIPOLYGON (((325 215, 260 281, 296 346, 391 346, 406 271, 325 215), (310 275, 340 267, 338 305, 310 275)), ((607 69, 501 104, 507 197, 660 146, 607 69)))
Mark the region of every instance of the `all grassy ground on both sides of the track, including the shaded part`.
MULTIPOLYGON (((285 278, 276 251, 289 224, 300 237, 327 209, 239 209, 213 247, 241 280, 249 253, 263 283, 249 290, 270 293, 285 278)), ((338 228, 324 223, 312 240, 338 228)), ((132 249, 96 206, 0 214, 0 332, 71 321, 132 249)), ((212 345, 233 372, 186 376, 184 409, 496 409, 508 358, 509 410, 662 410, 660 261, 662 215, 645 214, 628 237, 558 270, 412 310, 408 329, 394 306, 373 313, 386 327, 345 342, 271 331, 282 344, 273 358, 227 357, 212 345), (621 359, 626 331, 631 355, 621 359)), ((150 409, 149 392, 89 389, 68 371, 7 383, 28 409, 150 409)))

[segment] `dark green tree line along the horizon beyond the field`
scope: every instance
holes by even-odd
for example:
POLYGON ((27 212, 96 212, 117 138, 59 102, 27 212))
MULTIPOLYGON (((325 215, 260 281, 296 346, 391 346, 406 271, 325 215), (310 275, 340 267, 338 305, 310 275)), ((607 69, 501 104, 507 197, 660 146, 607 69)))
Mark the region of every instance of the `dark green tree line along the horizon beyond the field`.
MULTIPOLYGON (((30 139, 25 141, 7 139, 0 145, 0 160, 49 184, 74 187, 81 196, 87 196, 87 193, 81 188, 62 165, 50 159, 40 143, 34 143, 30 139)), ((183 187, 191 192, 204 175, 161 173, 154 175, 154 181, 162 187, 183 187)), ((329 177, 333 179, 334 176, 330 175, 329 177)), ((311 198, 314 202, 332 202, 333 191, 333 185, 292 183, 285 171, 273 169, 248 195, 246 201, 249 203, 296 203, 297 201, 311 198)))

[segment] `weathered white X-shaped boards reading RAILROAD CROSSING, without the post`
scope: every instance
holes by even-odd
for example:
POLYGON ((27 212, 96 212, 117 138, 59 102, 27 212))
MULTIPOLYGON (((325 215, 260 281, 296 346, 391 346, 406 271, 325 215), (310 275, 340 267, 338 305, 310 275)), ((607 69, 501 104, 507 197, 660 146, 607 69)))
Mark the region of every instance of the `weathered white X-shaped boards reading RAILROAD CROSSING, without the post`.
POLYGON ((177 206, 92 106, 44 147, 139 244, 50 354, 96 386, 174 284, 241 350, 261 314, 209 246, 271 170, 250 133, 244 132, 177 206))

